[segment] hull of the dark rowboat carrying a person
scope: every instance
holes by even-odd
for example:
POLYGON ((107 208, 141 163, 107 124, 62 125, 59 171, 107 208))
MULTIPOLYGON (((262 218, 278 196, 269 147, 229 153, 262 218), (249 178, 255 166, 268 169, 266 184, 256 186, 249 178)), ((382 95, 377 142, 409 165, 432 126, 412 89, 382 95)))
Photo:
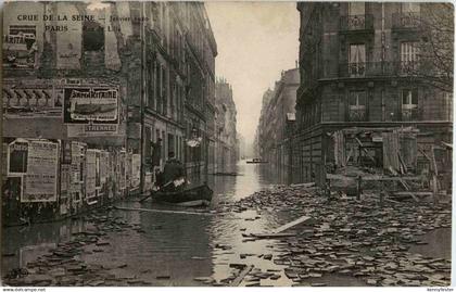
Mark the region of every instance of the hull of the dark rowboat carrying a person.
POLYGON ((176 192, 156 191, 152 193, 152 200, 156 202, 166 202, 182 206, 208 205, 214 192, 207 185, 183 189, 176 192))

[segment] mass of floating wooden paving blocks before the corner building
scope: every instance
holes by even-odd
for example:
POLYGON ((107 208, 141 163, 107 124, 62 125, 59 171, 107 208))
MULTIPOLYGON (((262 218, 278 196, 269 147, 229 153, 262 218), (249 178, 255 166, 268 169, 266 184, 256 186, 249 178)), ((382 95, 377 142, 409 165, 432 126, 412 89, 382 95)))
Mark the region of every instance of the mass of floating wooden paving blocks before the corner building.
MULTIPOLYGON (((451 205, 382 202, 372 198, 328 200, 315 187, 276 187, 224 208, 293 211, 312 217, 281 238, 275 264, 293 282, 315 285, 328 274, 359 277, 369 285, 448 285, 451 262, 407 252, 430 230, 451 227, 451 205)), ((250 275, 252 276, 252 275, 250 275)), ((325 285, 325 282, 318 285, 325 285)))

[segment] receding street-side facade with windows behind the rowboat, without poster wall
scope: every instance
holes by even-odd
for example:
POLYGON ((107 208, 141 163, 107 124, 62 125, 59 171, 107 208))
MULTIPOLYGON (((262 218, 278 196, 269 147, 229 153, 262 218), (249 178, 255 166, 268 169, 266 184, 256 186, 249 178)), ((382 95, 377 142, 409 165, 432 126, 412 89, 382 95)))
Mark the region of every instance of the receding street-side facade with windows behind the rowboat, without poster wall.
POLYGON ((142 153, 143 190, 154 182, 153 170, 163 170, 169 152, 185 162, 190 181, 200 183, 206 180, 208 160, 214 160, 210 153, 214 149, 217 55, 204 4, 131 2, 129 5, 136 5, 136 11, 149 20, 139 29, 144 41, 143 99, 131 107, 136 119, 131 123, 135 131, 129 137, 136 140, 135 152, 142 153), (135 135, 141 129, 142 135, 135 135), (191 139, 201 141, 198 147, 189 147, 187 142, 191 139), (160 161, 151 158, 154 151, 160 152, 160 161))

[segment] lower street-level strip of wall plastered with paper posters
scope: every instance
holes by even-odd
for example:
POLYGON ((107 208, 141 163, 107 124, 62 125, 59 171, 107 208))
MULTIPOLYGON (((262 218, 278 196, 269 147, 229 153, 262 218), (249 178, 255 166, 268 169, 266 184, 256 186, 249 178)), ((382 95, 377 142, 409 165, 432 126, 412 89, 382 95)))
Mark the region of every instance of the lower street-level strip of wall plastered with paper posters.
POLYGON ((139 158, 122 148, 90 149, 79 141, 22 138, 5 138, 3 145, 8 223, 79 214, 122 198, 139 185, 135 180, 139 158))

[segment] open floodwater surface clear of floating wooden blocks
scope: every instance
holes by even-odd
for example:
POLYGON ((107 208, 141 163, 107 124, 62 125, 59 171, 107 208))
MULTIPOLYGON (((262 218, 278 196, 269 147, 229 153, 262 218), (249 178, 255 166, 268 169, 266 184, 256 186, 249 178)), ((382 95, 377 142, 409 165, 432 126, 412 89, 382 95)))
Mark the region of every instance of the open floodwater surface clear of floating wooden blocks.
MULTIPOLYGON (((224 202, 238 201, 262 188, 268 188, 274 179, 265 176, 261 167, 267 167, 267 165, 240 162, 237 165, 239 176, 210 176, 210 186, 214 190, 213 207, 224 202)), ((121 202, 118 205, 152 207, 150 202, 140 204, 134 201, 121 202)), ((111 267, 112 272, 121 277, 136 276, 150 282, 151 285, 202 285, 201 282, 194 280, 197 277, 213 277, 219 281, 233 271, 229 264, 254 265, 262 270, 282 270, 284 266, 278 266, 274 261, 258 256, 280 254, 282 252, 280 241, 243 242, 242 233, 264 232, 297 217, 283 212, 276 213, 273 210, 214 216, 118 210, 110 212, 130 224, 140 225, 145 232, 126 230, 109 233, 107 240, 111 244, 103 246, 103 252, 83 254, 83 259, 111 267), (258 219, 250 220, 257 216, 259 216, 258 219), (226 249, 219 249, 219 245, 225 245, 226 249), (248 255, 245 258, 240 258, 241 254, 248 255), (126 267, 116 268, 125 264, 126 267)), ((2 237, 2 253, 5 255, 2 261, 2 270, 7 272, 12 268, 25 267, 28 262, 45 254, 60 241, 68 240, 72 233, 89 227, 90 224, 83 219, 68 219, 30 227, 7 228, 2 237)), ((427 238, 431 244, 426 247, 413 247, 416 249, 414 252, 449 258, 451 231, 433 232, 427 238), (448 252, 439 254, 442 249, 448 252), (436 254, 432 254, 432 251, 436 254)), ((329 276, 325 280, 329 285, 365 284, 356 278, 341 275, 329 276)), ((245 282, 241 283, 243 284, 245 282)), ((282 272, 278 280, 262 280, 262 284, 292 285, 293 282, 282 272)))

